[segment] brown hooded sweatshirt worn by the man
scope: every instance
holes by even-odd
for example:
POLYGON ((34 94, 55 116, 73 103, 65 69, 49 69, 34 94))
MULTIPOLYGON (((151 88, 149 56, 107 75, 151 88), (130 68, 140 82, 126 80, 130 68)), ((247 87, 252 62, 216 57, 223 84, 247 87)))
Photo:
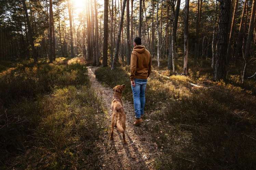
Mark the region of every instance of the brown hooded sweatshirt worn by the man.
POLYGON ((151 55, 145 46, 135 46, 131 56, 130 79, 147 79, 151 72, 151 55))

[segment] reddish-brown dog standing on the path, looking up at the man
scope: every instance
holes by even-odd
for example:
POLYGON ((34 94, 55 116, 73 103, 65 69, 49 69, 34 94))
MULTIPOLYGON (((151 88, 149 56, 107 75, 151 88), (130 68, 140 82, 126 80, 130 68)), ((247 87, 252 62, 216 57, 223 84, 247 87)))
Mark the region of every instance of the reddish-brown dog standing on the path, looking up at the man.
POLYGON ((123 134, 123 142, 126 143, 125 141, 125 119, 126 115, 124 113, 123 109, 123 103, 121 99, 122 91, 125 88, 125 85, 117 85, 116 87, 113 88, 114 91, 114 96, 111 102, 111 108, 113 111, 112 114, 112 129, 111 129, 111 136, 110 139, 113 139, 113 131, 114 131, 114 126, 117 126, 117 129, 120 133, 123 134))

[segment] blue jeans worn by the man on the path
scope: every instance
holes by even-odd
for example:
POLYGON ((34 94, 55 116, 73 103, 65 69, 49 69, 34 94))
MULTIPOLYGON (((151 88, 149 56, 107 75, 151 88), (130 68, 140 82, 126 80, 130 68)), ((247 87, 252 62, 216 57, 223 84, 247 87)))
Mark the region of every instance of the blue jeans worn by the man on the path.
POLYGON ((136 119, 140 119, 140 117, 144 115, 144 107, 146 103, 145 90, 147 82, 147 79, 134 79, 135 87, 132 86, 132 91, 136 119))

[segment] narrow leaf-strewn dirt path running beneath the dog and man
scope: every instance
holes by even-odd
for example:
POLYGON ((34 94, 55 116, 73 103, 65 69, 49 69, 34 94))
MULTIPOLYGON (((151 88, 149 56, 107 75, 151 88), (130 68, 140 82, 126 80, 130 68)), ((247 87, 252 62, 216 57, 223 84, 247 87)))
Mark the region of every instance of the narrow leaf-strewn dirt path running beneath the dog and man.
MULTIPOLYGON (((102 95, 106 108, 108 108, 108 121, 111 123, 110 116, 111 100, 113 97, 113 90, 109 87, 104 87, 95 78, 95 70, 98 67, 88 67, 92 88, 94 88, 99 95, 102 95)), ((96 165, 100 169, 154 169, 153 164, 155 158, 159 156, 159 150, 156 149, 156 144, 151 140, 151 136, 145 131, 145 124, 136 127, 133 126, 134 109, 133 103, 123 100, 123 106, 126 113, 126 131, 125 137, 127 145, 122 142, 122 136, 114 130, 114 141, 109 140, 110 128, 108 132, 98 142, 97 147, 103 152, 99 156, 100 164, 96 165)))

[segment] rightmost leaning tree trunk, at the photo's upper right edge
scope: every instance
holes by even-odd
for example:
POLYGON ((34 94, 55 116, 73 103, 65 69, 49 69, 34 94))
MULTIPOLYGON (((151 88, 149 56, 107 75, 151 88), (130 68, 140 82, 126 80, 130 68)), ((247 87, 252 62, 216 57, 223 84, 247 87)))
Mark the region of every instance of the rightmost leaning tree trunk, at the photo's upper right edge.
POLYGON ((242 83, 244 83, 244 77, 246 75, 247 60, 250 57, 250 50, 251 50, 252 39, 253 39, 254 17, 255 17, 255 9, 256 9, 256 3, 255 2, 256 2, 256 0, 253 0, 252 13, 251 13, 251 18, 250 18, 250 25, 249 25, 246 47, 245 47, 245 52, 244 52, 244 62, 245 62, 245 64, 244 64, 244 71, 243 71, 243 76, 242 76, 242 83))

